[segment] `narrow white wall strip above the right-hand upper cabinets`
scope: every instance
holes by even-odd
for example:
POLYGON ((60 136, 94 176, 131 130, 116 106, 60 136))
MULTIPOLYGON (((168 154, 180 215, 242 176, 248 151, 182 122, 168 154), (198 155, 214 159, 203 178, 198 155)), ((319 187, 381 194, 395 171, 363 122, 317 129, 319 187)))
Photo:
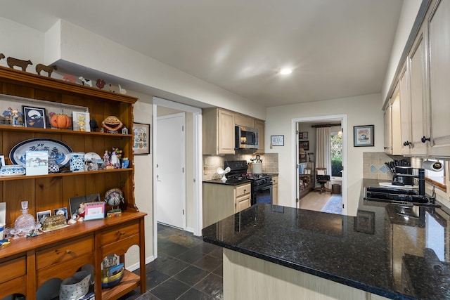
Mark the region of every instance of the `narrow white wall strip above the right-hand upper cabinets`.
POLYGON ((422 0, 404 0, 401 7, 401 15, 399 18, 399 24, 397 25, 397 32, 395 34, 394 44, 392 46, 389 65, 387 67, 385 82, 381 92, 381 100, 384 101, 389 96, 389 92, 392 81, 394 80, 397 66, 399 65, 401 53, 403 53, 406 41, 408 40, 411 28, 416 20, 417 13, 420 8, 422 0))

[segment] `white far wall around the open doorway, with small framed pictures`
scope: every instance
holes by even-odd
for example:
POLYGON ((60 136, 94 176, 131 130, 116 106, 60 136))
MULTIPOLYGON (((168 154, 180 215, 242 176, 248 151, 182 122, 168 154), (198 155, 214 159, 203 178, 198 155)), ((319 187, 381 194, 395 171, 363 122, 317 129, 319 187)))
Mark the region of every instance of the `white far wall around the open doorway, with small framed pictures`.
MULTIPOLYGON (((279 187, 278 199, 281 205, 295 207, 295 177, 293 175, 293 157, 295 155, 295 141, 293 138, 293 119, 302 117, 323 117, 326 115, 347 115, 347 157, 348 157, 348 214, 356 215, 356 208, 361 193, 361 181, 363 176, 362 152, 383 152, 383 111, 380 107, 379 93, 320 101, 315 103, 300 103, 296 105, 285 105, 269 107, 266 119, 266 141, 270 136, 284 135, 284 147, 272 149, 266 145, 266 152, 278 152, 279 187), (374 147, 353 147, 353 126, 375 125, 374 147)), ((314 152, 314 151, 313 151, 314 152)))

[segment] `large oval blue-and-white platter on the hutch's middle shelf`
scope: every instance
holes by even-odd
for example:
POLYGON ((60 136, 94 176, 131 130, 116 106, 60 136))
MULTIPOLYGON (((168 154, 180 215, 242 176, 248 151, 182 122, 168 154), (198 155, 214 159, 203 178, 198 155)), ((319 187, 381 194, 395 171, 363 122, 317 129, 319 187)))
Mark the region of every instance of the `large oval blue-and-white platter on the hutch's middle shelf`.
POLYGON ((72 152, 72 149, 65 143, 51 138, 32 138, 15 145, 9 152, 9 159, 13 164, 20 164, 25 167, 25 153, 27 151, 49 151, 49 155, 53 155, 58 166, 62 168, 69 165, 69 153, 72 152))

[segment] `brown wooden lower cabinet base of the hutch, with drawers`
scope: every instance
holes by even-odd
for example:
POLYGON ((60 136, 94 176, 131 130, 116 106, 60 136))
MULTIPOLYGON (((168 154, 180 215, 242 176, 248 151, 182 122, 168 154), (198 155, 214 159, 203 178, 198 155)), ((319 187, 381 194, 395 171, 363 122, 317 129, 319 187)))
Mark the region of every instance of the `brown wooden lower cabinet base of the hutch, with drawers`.
MULTIPOLYGON (((140 287, 146 292, 144 213, 122 213, 122 216, 79 222, 37 237, 12 240, 0 254, 0 299, 13 294, 36 299, 39 287, 53 279, 70 278, 86 265, 94 272, 96 299, 118 299, 140 287), (139 275, 124 270, 122 280, 102 289, 101 265, 108 254, 124 262, 129 247, 139 246, 139 275)), ((46 293, 58 294, 56 291, 46 293)))

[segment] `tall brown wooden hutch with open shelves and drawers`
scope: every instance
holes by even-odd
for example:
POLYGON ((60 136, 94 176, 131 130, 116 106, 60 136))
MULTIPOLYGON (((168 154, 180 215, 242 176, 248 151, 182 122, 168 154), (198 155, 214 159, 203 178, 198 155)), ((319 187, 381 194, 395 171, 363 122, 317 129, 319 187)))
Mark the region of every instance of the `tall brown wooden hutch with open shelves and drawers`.
MULTIPOLYGON (((113 115, 129 129, 129 134, 122 134, 0 124, 0 155, 8 157, 11 149, 22 141, 51 138, 67 144, 73 152, 96 152, 102 155, 106 149, 118 147, 123 150, 124 157, 130 160, 127 169, 0 177, 0 202, 6 202, 8 227, 14 226, 15 219, 21 214, 20 202, 23 200, 29 203, 29 213, 36 216, 37 211, 69 207, 70 197, 99 193, 103 199, 110 188, 122 189, 125 199, 121 207, 122 216, 77 222, 37 237, 20 237, 0 247, 0 299, 10 294, 23 294, 27 299, 36 299, 36 292, 44 282, 51 278, 68 278, 86 264, 94 266, 96 299, 117 299, 136 287, 145 292, 146 214, 139 212, 134 200, 131 134, 133 105, 137 98, 6 67, 0 67, 0 94, 88 107, 91 119, 99 124, 105 117, 113 115), (133 245, 139 246, 139 275, 125 270, 119 285, 102 289, 103 258, 117 254, 120 261, 124 262, 125 252, 133 245)), ((108 204, 107 209, 110 209, 108 204)))

